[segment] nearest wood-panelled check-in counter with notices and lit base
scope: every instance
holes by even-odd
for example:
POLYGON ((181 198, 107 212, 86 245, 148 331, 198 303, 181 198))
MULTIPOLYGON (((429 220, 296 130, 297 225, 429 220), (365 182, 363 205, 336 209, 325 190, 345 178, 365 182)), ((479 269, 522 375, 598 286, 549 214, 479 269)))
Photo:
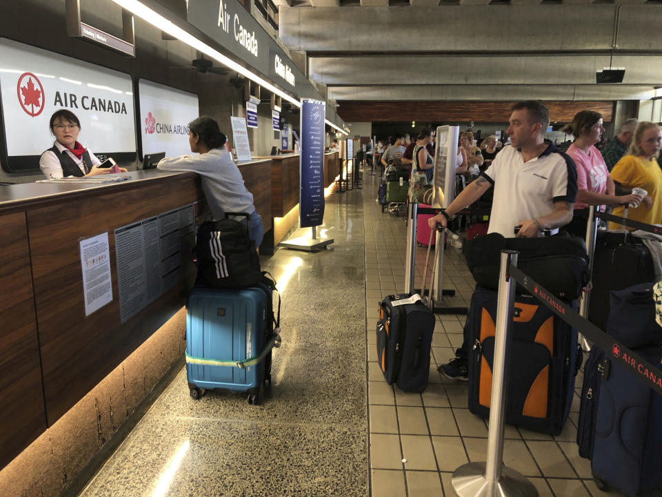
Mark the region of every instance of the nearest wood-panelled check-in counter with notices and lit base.
MULTIPOLYGON (((265 230, 269 164, 239 163, 265 230)), ((127 179, 0 186, 0 467, 58 420, 83 438, 96 416, 81 413, 81 400, 99 388, 108 396, 94 394, 99 419, 114 413, 114 427, 99 427, 107 440, 181 362, 200 178, 118 176, 127 179)))

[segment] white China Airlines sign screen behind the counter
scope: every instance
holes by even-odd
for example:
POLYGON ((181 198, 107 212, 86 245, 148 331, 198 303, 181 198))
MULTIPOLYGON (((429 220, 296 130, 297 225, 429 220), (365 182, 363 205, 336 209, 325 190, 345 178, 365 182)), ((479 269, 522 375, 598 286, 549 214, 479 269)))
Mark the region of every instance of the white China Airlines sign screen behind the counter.
POLYGON ((148 79, 138 81, 141 157, 190 154, 188 124, 200 115, 198 96, 148 79))

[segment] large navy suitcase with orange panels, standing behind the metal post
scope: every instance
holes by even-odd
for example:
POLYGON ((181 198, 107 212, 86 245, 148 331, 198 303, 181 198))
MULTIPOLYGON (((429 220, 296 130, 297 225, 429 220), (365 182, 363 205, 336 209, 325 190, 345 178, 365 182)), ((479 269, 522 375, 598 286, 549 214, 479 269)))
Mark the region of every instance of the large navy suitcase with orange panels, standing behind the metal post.
MULTIPOLYGON (((496 335, 497 292, 477 287, 465 335, 469 341, 469 409, 488 418, 496 335)), ((570 413, 578 367, 577 333, 539 300, 516 295, 505 422, 560 433, 570 413)))

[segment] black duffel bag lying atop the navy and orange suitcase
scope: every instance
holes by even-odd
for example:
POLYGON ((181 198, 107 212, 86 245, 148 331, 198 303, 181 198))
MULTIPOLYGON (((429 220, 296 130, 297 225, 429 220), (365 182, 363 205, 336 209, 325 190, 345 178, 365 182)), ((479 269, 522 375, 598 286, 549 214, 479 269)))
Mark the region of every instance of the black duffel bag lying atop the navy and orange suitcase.
MULTIPOLYGON (((469 270, 481 286, 499 288, 502 250, 519 252, 517 267, 556 297, 574 300, 588 284, 588 255, 581 238, 561 232, 551 237, 505 238, 499 233, 475 237, 465 244, 469 270)), ((518 293, 528 293, 519 284, 518 293)))

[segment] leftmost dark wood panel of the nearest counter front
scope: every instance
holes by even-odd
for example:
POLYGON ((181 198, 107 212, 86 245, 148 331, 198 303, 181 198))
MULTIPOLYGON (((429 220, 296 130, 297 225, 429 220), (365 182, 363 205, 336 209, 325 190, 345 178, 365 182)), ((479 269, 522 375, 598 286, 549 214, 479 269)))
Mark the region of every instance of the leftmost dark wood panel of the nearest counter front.
POLYGON ((0 467, 46 429, 25 213, 0 217, 0 467))

